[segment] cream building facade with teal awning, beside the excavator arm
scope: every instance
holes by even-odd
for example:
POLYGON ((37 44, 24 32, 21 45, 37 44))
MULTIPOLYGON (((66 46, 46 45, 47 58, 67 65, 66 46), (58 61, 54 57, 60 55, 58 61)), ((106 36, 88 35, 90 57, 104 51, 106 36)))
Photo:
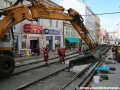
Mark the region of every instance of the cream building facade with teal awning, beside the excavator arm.
POLYGON ((78 48, 81 40, 77 31, 68 21, 63 22, 63 44, 66 48, 78 48))

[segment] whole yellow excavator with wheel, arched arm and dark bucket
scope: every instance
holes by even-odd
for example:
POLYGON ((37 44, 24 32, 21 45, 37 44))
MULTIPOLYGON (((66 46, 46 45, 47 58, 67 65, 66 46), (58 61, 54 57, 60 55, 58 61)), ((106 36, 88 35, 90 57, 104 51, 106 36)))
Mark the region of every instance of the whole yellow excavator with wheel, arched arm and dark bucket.
POLYGON ((28 0, 31 4, 24 5, 24 0, 17 0, 11 7, 0 9, 0 78, 9 76, 15 68, 13 55, 14 32, 12 27, 24 20, 33 21, 39 18, 69 21, 89 47, 87 55, 71 60, 69 67, 100 61, 101 54, 96 50, 97 44, 84 25, 82 16, 74 9, 66 10, 62 6, 48 6, 44 0, 28 0), (9 37, 9 38, 7 38, 9 37), (7 39, 6 39, 7 38, 7 39))

